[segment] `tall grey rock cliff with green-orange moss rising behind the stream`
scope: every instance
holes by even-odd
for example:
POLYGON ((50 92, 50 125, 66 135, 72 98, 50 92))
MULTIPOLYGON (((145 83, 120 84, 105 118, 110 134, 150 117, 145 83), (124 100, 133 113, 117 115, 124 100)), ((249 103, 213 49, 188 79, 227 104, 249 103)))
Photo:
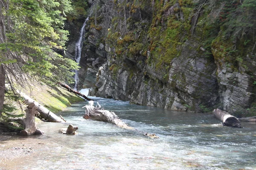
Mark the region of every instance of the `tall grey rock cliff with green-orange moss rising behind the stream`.
POLYGON ((108 59, 96 77, 97 96, 179 111, 255 112, 254 28, 230 31, 235 21, 229 14, 236 19, 249 10, 244 4, 102 0, 98 5, 111 12, 98 10, 91 18, 98 26, 90 30, 104 41, 102 48, 94 44, 108 59))

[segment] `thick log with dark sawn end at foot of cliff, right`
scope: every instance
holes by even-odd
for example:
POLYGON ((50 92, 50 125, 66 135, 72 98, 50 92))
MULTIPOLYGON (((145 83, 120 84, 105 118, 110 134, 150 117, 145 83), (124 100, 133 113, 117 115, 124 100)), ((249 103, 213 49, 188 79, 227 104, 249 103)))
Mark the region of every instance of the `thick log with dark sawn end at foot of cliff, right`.
POLYGON ((232 116, 225 111, 214 109, 212 113, 217 119, 223 122, 224 126, 241 127, 240 121, 235 116, 232 116))

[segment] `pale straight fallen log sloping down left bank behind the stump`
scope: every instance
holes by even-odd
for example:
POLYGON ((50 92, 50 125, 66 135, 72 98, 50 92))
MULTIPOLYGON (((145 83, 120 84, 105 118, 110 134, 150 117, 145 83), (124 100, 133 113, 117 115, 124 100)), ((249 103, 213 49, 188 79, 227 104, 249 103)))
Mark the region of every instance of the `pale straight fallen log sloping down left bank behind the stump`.
POLYGON ((56 116, 54 113, 49 111, 47 108, 40 105, 38 102, 35 102, 35 100, 31 99, 26 94, 20 93, 20 95, 23 96, 23 98, 25 99, 25 102, 27 104, 29 104, 29 103, 35 104, 36 111, 38 111, 40 113, 41 118, 44 118, 45 120, 48 120, 49 122, 62 122, 62 123, 65 122, 60 117, 56 116))

